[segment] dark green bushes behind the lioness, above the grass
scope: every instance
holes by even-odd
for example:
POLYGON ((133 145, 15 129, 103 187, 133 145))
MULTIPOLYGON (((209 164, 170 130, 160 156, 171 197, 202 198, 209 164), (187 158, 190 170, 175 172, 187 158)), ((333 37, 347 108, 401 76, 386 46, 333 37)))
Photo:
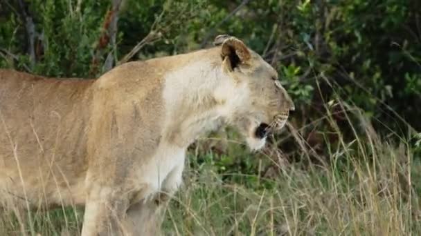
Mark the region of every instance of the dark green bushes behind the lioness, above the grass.
POLYGON ((98 77, 127 59, 211 46, 218 34, 278 70, 298 107, 292 124, 316 150, 318 131, 332 130, 314 122, 326 104, 339 125, 346 119, 339 97, 384 135, 421 130, 420 1, 0 1, 0 66, 51 77, 98 77))

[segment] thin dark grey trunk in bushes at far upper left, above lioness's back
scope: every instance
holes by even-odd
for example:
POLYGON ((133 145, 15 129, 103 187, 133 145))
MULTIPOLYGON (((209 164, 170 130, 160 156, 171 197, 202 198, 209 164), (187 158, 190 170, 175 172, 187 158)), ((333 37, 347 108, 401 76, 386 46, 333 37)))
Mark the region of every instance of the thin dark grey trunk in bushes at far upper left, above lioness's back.
POLYGON ((28 37, 28 55, 30 58, 30 68, 35 66, 35 24, 32 16, 26 10, 27 6, 23 0, 18 0, 19 8, 21 10, 21 17, 25 22, 26 36, 28 37))

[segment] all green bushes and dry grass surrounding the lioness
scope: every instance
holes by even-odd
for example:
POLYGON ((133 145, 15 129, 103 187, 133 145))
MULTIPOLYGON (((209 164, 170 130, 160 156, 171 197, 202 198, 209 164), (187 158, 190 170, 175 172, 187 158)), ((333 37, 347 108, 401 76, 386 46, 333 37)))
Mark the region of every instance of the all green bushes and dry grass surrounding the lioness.
MULTIPOLYGON (((420 4, 2 0, 0 66, 98 77, 240 37, 297 110, 262 152, 230 129, 192 145, 163 234, 421 235, 420 4)), ((7 213, 0 235, 78 235, 82 215, 7 213)))

